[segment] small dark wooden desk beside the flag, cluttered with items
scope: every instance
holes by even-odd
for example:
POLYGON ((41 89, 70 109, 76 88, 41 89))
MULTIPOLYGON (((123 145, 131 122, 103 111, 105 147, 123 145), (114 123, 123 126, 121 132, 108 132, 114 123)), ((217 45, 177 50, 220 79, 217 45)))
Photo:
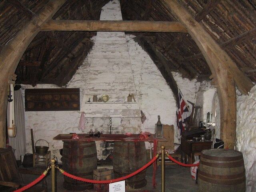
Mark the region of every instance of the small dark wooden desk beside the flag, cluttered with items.
MULTIPOLYGON (((194 161, 194 154, 200 153, 202 150, 212 148, 212 141, 188 141, 184 138, 180 138, 181 150, 188 155, 188 163, 191 164, 194 161)), ((186 161, 186 156, 185 156, 186 161)))

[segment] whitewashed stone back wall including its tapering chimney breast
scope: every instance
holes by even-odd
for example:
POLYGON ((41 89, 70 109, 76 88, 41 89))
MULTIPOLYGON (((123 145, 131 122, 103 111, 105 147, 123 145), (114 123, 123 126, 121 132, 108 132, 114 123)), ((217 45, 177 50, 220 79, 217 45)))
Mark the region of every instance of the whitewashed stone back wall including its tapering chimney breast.
MULTIPOLYGON (((101 20, 122 20, 118 0, 102 8, 101 20)), ((50 143, 52 155, 60 160, 58 150, 63 142, 52 140, 58 134, 78 130, 80 112, 86 112, 86 129, 109 132, 109 117, 112 117, 112 133, 140 130, 154 133, 157 116, 163 124, 174 124, 176 128, 176 103, 166 81, 156 65, 142 48, 124 32, 98 32, 93 38, 94 46, 82 66, 77 70, 66 88, 80 88, 80 111, 25 112, 27 152, 32 152, 30 128, 34 130, 34 140, 45 139, 50 143), (128 103, 127 96, 134 93, 136 102, 128 103), (108 94, 107 103, 87 102, 94 94, 108 94), (140 110, 147 120, 141 123, 140 110)), ((186 100, 195 102, 199 84, 196 80, 182 78, 173 73, 174 79, 186 100)), ((29 85, 22 85, 32 88, 29 85)), ((59 88, 54 85, 38 84, 34 88, 59 88)), ((24 91, 23 91, 24 94, 24 91)), ((175 138, 175 142, 178 142, 175 138)), ((42 143, 44 144, 44 143, 42 143)), ((149 147, 149 146, 147 146, 149 147)), ((106 158, 105 144, 97 143, 98 158, 106 158)), ((110 148, 108 148, 110 150, 110 148)))

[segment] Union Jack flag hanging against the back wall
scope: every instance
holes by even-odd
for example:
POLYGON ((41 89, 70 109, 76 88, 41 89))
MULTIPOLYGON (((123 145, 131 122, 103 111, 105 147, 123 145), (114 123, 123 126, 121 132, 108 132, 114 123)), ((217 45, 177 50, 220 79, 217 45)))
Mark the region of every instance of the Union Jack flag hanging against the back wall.
POLYGON ((179 89, 178 91, 178 118, 177 118, 177 124, 178 128, 180 130, 180 135, 185 130, 186 122, 189 122, 191 112, 188 108, 188 105, 186 104, 186 101, 183 98, 183 95, 179 89))

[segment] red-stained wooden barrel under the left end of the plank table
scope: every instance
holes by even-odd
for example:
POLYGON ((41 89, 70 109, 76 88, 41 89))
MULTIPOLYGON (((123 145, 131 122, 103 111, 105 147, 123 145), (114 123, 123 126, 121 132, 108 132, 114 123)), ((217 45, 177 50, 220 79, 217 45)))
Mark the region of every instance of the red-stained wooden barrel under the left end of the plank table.
MULTIPOLYGON (((62 152, 63 169, 82 178, 93 179, 93 170, 97 169, 97 151, 95 142, 64 141, 62 152)), ((63 186, 67 190, 86 190, 93 184, 80 182, 64 176, 63 186)))

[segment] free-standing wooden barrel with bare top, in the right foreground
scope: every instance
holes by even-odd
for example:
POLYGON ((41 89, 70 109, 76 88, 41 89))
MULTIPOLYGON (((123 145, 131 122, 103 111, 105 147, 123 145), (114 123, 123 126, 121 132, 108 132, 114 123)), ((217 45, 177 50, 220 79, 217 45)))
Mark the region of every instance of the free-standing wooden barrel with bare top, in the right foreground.
POLYGON ((243 154, 236 150, 203 150, 198 167, 199 192, 245 192, 243 154))

